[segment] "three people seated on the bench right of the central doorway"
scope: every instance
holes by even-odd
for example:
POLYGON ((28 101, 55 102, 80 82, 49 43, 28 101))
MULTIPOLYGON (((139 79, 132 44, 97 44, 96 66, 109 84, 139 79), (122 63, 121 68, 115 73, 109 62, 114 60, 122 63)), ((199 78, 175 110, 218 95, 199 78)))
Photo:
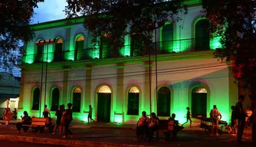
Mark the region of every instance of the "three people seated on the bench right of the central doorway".
MULTIPOLYGON (((169 118, 169 121, 172 121, 172 126, 174 129, 172 131, 172 137, 176 138, 177 127, 179 122, 175 120, 176 114, 172 113, 172 116, 169 118)), ((179 126, 180 128, 180 126, 179 126)), ((136 125, 136 139, 147 139, 147 141, 151 141, 153 139, 154 132, 159 129, 159 118, 156 116, 156 113, 151 113, 150 118, 146 116, 146 112, 142 112, 142 116, 139 118, 136 125)), ((170 136, 170 132, 165 132, 166 136, 170 136)))

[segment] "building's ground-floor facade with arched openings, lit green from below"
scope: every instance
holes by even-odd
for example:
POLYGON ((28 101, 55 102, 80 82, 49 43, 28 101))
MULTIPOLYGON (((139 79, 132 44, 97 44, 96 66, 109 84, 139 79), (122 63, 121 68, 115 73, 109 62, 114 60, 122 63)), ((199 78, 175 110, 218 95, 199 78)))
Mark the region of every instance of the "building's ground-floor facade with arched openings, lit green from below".
POLYGON ((19 115, 26 110, 42 116, 47 104, 54 116, 58 106, 73 103, 74 121, 87 121, 91 105, 98 122, 136 123, 146 111, 159 119, 176 113, 183 123, 186 107, 195 117, 209 116, 217 105, 228 121, 238 100, 231 67, 213 59, 212 51, 162 56, 157 64, 147 57, 84 63, 48 64, 48 70, 28 65, 22 70, 19 115))

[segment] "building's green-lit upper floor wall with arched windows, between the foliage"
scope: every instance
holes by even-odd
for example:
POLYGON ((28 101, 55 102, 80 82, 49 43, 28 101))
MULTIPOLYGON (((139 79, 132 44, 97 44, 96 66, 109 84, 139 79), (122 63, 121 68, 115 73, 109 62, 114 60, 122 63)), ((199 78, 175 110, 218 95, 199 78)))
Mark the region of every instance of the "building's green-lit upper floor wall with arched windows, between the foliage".
MULTIPOLYGON (((221 47, 219 38, 210 38, 209 22, 202 14, 202 5, 189 5, 188 14, 179 14, 182 21, 172 24, 166 21, 153 31, 151 54, 173 54, 183 51, 204 51, 221 47), (156 51, 156 52, 155 52, 156 51)), ((37 64, 42 61, 61 62, 68 60, 96 60, 111 58, 107 43, 92 48, 91 34, 84 30, 83 18, 63 19, 34 24, 33 41, 25 45, 24 64, 37 64), (37 46, 36 41, 55 39, 54 44, 37 46)), ((129 28, 128 28, 129 29, 129 28)), ((138 38, 126 35, 120 57, 140 56, 138 38)))

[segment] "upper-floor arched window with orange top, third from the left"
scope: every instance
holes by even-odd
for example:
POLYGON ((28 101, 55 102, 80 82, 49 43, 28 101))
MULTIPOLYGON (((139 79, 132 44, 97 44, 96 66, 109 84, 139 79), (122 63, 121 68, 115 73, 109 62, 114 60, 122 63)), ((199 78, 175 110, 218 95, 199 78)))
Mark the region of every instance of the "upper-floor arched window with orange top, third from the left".
POLYGON ((80 35, 76 39, 75 50, 74 50, 74 60, 80 60, 83 57, 84 51, 84 36, 80 35))

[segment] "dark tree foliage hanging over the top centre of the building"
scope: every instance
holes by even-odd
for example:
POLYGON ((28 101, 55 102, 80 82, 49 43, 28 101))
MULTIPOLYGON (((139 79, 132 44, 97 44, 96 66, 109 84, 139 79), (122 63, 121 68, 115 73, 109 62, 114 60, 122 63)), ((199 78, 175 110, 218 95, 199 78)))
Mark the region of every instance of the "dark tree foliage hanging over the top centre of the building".
MULTIPOLYGON (((120 54, 124 44, 124 36, 131 34, 141 37, 142 48, 152 43, 152 30, 149 24, 158 21, 172 22, 181 18, 178 13, 187 13, 185 0, 67 0, 65 9, 68 18, 84 16, 84 28, 92 34, 92 44, 103 45, 107 41, 108 48, 114 57, 120 54), (127 29, 129 28, 129 29, 127 29)), ((135 44, 138 44, 136 42, 135 44)), ((134 44, 134 45, 135 45, 134 44)), ((144 54, 146 51, 134 51, 144 54)))

